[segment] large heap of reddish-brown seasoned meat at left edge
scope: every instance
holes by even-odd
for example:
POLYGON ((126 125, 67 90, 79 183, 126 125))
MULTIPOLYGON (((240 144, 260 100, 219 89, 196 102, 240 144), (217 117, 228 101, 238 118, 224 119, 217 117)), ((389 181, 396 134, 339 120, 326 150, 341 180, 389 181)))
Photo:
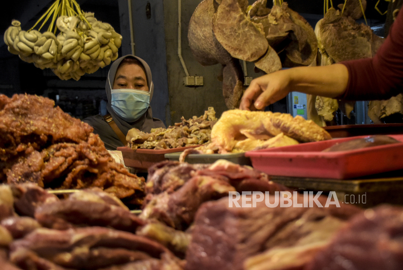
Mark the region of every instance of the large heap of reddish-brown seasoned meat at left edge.
POLYGON ((142 194, 144 179, 115 163, 93 129, 54 107, 54 101, 0 95, 0 118, 0 182, 100 187, 118 198, 142 194))

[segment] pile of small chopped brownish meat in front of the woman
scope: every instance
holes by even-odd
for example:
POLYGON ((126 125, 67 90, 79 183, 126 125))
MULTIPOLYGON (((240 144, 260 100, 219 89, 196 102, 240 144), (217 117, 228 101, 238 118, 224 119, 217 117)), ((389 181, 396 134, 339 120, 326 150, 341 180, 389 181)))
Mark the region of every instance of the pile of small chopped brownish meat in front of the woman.
POLYGON ((168 149, 201 145, 210 142, 211 128, 216 123, 216 112, 209 107, 201 117, 194 116, 188 120, 181 118, 181 123, 165 128, 151 129, 151 133, 142 132, 136 128, 129 130, 126 140, 133 150, 168 149))

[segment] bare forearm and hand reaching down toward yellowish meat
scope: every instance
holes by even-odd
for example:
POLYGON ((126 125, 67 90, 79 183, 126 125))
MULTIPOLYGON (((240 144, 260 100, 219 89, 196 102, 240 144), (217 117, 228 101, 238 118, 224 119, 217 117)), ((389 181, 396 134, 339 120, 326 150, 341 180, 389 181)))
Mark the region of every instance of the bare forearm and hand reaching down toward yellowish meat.
POLYGON ((334 98, 344 93, 348 80, 349 72, 342 64, 280 70, 252 80, 239 108, 262 110, 293 91, 334 98))

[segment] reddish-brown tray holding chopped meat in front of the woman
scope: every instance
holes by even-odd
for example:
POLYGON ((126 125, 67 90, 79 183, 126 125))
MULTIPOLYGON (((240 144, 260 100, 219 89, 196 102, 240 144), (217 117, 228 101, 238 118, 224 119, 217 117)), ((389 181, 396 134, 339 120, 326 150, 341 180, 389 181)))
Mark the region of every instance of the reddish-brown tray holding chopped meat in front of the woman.
POLYGON ((166 153, 182 152, 188 148, 196 148, 200 145, 192 145, 186 147, 169 148, 169 149, 136 149, 130 147, 118 147, 117 150, 122 152, 123 161, 126 167, 148 169, 155 163, 167 160, 166 153))

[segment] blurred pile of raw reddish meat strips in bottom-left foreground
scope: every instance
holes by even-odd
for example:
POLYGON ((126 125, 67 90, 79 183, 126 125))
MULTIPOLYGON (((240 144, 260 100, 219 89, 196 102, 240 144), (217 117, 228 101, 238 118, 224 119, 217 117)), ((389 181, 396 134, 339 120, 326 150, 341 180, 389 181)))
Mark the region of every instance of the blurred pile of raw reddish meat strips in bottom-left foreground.
POLYGON ((144 220, 101 189, 59 200, 35 184, 3 185, 0 206, 9 209, 0 219, 1 269, 183 270, 164 245, 135 234, 144 220))

